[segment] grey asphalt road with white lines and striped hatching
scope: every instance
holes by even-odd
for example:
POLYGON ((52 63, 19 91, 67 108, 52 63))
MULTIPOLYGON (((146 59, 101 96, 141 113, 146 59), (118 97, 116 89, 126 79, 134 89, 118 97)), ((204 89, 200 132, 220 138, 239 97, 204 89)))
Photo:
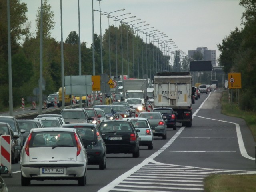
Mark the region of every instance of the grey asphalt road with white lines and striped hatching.
POLYGON ((221 92, 201 94, 192 106, 192 127, 178 124, 176 131, 168 129, 167 140, 154 137, 154 149, 140 147, 139 158, 108 154, 106 170, 88 166, 84 187, 72 180, 32 180, 21 187, 19 164, 4 180, 10 192, 197 192, 210 174, 255 174, 253 137, 244 120, 220 113, 221 92))

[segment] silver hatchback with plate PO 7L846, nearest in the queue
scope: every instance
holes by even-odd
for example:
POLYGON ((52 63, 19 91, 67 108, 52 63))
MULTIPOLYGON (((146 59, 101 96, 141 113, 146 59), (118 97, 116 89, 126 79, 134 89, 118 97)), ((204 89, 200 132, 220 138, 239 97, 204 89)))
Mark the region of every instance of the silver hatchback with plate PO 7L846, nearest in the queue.
POLYGON ((87 154, 74 128, 35 128, 22 148, 21 185, 31 180, 78 180, 86 184, 87 154))

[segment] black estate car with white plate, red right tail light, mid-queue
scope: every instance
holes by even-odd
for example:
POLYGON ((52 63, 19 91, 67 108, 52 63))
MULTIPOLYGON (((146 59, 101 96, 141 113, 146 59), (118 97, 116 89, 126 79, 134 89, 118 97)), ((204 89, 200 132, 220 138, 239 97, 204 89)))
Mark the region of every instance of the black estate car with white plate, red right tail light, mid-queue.
POLYGON ((105 120, 100 122, 99 130, 109 153, 132 153, 140 156, 139 136, 129 120, 105 120))

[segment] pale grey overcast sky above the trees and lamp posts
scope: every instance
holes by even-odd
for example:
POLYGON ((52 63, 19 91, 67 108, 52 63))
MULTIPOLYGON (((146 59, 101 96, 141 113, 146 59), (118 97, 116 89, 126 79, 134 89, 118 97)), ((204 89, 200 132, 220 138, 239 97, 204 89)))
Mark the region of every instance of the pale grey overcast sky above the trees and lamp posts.
MULTIPOLYGON (((27 4, 28 20, 31 22, 32 31, 35 31, 36 13, 41 0, 21 2, 27 4)), ((55 28, 52 30, 52 37, 60 41, 60 0, 48 0, 48 4, 54 12, 55 28)), ((217 44, 222 44, 222 40, 236 27, 242 28, 241 17, 244 12, 239 0, 93 0, 93 8, 106 13, 113 12, 110 15, 118 16, 123 22, 140 19, 130 24, 146 21, 134 26, 145 29, 144 32, 156 29, 163 32, 168 37, 162 36, 160 40, 172 39, 178 46, 172 50, 180 49, 188 54, 188 50, 207 47, 208 50, 216 50, 217 58, 220 55, 217 44), (120 9, 125 10, 117 11, 120 9), (132 16, 136 17, 128 18, 132 16), (142 26, 144 24, 149 25, 142 26)), ((101 15, 101 23, 103 35, 108 28, 107 16, 101 15)), ((115 25, 114 19, 110 19, 110 25, 115 25)), ((87 42, 87 47, 92 44, 92 26, 94 33, 99 35, 100 12, 94 11, 92 22, 92 0, 80 0, 80 40, 87 42)), ((62 0, 62 28, 63 41, 71 31, 78 34, 78 0, 62 0)), ((143 39, 145 41, 145 35, 143 39)))

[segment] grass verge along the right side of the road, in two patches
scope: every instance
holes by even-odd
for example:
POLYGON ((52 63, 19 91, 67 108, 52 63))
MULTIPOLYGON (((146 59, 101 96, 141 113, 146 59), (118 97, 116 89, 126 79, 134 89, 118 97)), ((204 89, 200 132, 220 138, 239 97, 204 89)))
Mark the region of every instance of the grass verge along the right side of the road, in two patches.
MULTIPOLYGON (((242 118, 256 140, 256 113, 242 111, 238 104, 228 102, 228 92, 221 99, 222 114, 242 118)), ((204 192, 256 192, 256 174, 252 175, 210 175, 204 180, 204 192)))

